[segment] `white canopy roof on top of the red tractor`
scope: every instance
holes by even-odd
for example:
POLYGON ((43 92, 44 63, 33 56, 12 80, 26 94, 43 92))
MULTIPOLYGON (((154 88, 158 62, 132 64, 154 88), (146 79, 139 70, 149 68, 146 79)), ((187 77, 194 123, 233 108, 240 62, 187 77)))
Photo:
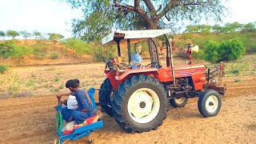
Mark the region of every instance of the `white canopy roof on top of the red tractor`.
POLYGON ((115 45, 114 38, 121 38, 120 45, 127 45, 126 39, 130 39, 130 43, 133 44, 146 38, 155 38, 170 32, 171 30, 117 30, 102 38, 102 45, 115 45))

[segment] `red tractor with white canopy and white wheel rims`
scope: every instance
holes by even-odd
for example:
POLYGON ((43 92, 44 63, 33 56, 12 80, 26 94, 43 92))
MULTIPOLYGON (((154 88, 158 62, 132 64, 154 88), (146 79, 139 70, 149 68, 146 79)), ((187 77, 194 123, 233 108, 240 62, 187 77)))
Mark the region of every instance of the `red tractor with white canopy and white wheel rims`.
POLYGON ((197 50, 188 46, 190 62, 185 66, 174 66, 171 44, 166 37, 169 32, 122 30, 102 38, 103 45, 117 44, 118 60, 104 60, 106 79, 99 90, 98 105, 130 133, 155 130, 162 125, 168 110, 167 102, 176 108, 185 106, 188 98, 199 97, 198 110, 204 117, 213 117, 221 109, 221 95, 226 90, 221 83, 223 65, 210 71, 204 65, 193 64, 192 52, 197 50), (152 39, 160 35, 166 38, 166 67, 161 65, 157 46, 152 39), (129 64, 132 64, 130 45, 148 38, 154 42, 156 62, 136 69, 130 69, 121 62, 120 46, 128 47, 129 64), (218 82, 214 79, 216 76, 218 82))

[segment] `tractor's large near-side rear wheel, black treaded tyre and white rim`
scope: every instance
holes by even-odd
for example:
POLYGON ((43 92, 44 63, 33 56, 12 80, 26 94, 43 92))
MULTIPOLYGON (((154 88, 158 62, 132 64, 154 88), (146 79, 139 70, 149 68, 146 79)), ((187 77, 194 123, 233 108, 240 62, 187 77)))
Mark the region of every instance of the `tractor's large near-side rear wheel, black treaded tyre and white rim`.
POLYGON ((133 76, 118 86, 112 106, 116 122, 130 133, 157 129, 168 110, 164 87, 146 75, 133 76))

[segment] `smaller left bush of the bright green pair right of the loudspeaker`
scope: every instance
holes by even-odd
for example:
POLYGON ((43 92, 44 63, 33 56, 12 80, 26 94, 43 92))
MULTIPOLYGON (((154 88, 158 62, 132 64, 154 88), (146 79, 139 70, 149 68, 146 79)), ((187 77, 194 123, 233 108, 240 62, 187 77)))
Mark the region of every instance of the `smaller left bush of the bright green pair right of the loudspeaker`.
POLYGON ((219 55, 219 44, 218 42, 208 41, 206 42, 205 46, 205 55, 204 59, 209 62, 218 62, 220 55, 219 55))

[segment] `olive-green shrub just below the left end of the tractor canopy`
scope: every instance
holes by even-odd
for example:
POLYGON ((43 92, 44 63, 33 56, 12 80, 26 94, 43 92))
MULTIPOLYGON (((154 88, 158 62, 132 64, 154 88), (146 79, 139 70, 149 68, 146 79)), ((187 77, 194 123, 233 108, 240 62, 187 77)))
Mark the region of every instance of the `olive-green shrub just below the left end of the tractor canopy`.
POLYGON ((100 62, 104 58, 114 57, 114 46, 94 46, 94 61, 100 62))

